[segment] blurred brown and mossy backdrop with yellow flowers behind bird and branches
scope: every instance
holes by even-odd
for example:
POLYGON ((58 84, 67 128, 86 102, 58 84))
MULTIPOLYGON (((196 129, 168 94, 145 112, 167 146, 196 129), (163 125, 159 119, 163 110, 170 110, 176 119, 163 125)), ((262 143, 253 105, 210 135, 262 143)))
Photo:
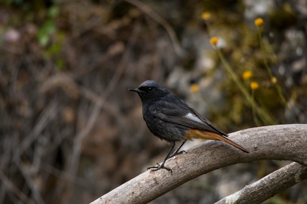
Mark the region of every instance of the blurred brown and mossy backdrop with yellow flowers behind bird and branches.
MULTIPOLYGON (((306 0, 1 0, 0 203, 90 203, 164 159, 128 91, 148 79, 228 133, 307 123, 306 40, 306 0)), ((288 163, 222 168, 151 204, 212 204, 288 163)), ((306 204, 307 182, 264 203, 306 204)))

